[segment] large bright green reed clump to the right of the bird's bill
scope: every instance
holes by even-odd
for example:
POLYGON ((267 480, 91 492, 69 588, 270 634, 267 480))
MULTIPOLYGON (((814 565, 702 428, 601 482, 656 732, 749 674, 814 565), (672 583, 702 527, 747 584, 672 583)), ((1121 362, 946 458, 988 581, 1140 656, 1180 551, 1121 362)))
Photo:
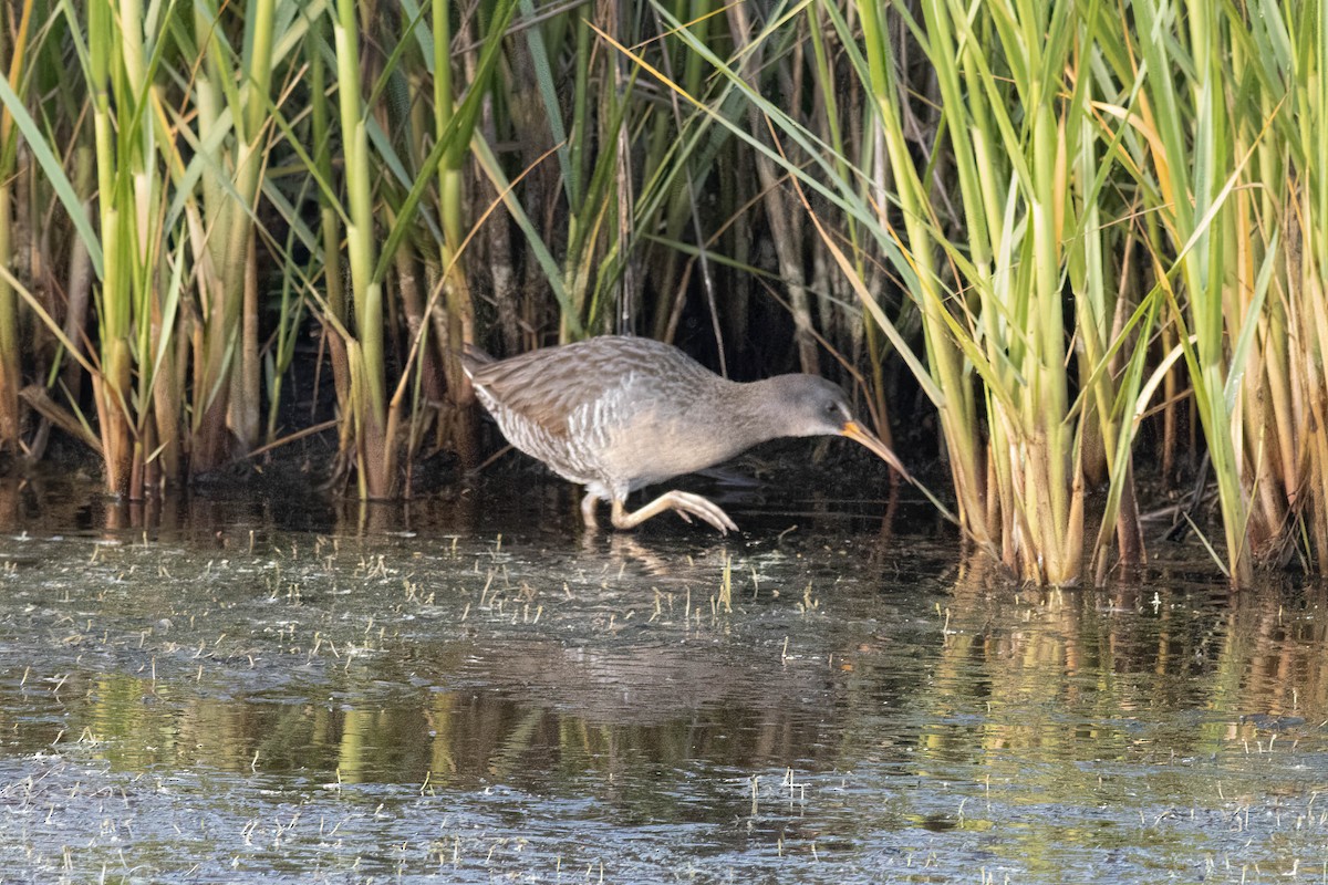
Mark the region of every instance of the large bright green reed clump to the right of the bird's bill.
MULTIPOLYGON (((692 23, 664 15, 685 38, 692 23)), ((714 70, 700 93, 610 41, 786 176, 867 326, 938 410, 972 541, 1033 582, 1143 561, 1135 441, 1165 390, 1173 460, 1187 393, 1220 567, 1244 585, 1296 549, 1308 563, 1320 541, 1304 541, 1321 537, 1317 480, 1300 471, 1320 423, 1296 421, 1319 401, 1321 360, 1288 352, 1323 328, 1293 296, 1319 291, 1323 238, 1300 235, 1321 202, 1317 149, 1295 137, 1321 113, 1320 84, 1296 77, 1317 64, 1323 23, 1312 3, 790 4, 729 56, 692 38, 714 70), (822 80, 819 113, 802 114, 745 72, 803 28, 815 70, 834 58, 867 101, 846 106, 822 80), (734 93, 766 133, 726 113, 734 93), (894 314, 890 279, 907 296, 894 314)))

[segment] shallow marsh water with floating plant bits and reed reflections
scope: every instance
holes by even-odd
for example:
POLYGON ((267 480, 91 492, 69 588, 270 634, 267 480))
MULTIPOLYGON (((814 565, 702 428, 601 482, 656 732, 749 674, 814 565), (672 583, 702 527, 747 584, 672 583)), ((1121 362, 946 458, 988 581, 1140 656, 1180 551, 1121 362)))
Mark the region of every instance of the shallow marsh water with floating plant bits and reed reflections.
POLYGON ((497 491, 0 494, 0 881, 1328 878, 1321 586, 1021 590, 908 504, 583 539, 497 491))

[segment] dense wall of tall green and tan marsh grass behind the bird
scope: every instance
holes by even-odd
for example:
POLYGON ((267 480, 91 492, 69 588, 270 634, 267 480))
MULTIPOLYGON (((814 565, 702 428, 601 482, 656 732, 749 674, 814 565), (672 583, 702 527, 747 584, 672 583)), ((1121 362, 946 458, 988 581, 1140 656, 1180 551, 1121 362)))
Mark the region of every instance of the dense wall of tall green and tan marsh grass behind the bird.
POLYGON ((394 498, 482 460, 466 345, 685 336, 934 421, 1019 580, 1145 561, 1137 472, 1201 458, 1234 582, 1328 555, 1317 0, 12 12, 15 456, 57 429, 142 499, 335 411, 329 483, 394 498))

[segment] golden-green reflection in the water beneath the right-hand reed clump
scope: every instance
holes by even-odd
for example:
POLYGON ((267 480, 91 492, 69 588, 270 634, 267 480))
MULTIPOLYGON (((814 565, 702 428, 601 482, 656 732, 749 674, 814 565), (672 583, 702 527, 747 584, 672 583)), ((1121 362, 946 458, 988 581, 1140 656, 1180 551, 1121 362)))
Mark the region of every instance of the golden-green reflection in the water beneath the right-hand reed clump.
MULTIPOLYGON (((980 744, 1001 759, 1074 756, 1084 740, 1108 759, 1212 755, 1228 742, 1243 752, 1259 722, 1284 722, 1293 740, 1297 728, 1313 730, 1297 723, 1328 716, 1328 629, 1311 614, 1321 592, 1262 586, 1203 598, 1165 580, 1153 586, 1012 598, 965 577, 951 602, 955 636, 936 644, 944 691, 934 714, 987 710, 980 744), (1171 720, 1198 710, 1193 728, 1171 720)), ((936 728, 926 743, 943 752, 964 739, 936 728)))

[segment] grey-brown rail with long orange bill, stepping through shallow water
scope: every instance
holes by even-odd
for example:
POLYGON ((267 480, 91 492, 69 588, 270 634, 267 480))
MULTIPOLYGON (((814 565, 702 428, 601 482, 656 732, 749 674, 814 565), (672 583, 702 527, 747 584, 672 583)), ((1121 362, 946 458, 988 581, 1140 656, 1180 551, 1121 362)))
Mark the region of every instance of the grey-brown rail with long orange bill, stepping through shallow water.
POLYGON ((672 510, 721 533, 737 525, 713 502, 672 490, 627 510, 628 494, 722 463, 781 437, 854 439, 912 482, 899 458, 853 415, 839 385, 793 373, 721 378, 673 345, 600 336, 494 360, 461 357, 475 395, 515 448, 586 487, 582 517, 598 527, 600 502, 631 529, 672 510))

